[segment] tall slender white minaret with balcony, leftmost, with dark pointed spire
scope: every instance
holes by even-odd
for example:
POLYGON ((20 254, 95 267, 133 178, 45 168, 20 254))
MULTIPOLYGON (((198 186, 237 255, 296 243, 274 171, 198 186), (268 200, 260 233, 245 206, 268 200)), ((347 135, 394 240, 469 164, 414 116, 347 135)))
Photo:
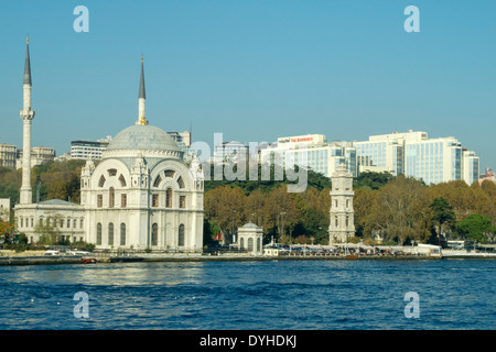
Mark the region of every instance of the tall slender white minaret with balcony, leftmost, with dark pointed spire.
POLYGON ((21 186, 21 205, 30 205, 33 202, 31 189, 31 121, 34 119, 34 111, 31 110, 31 64, 30 64, 30 41, 25 40, 25 63, 24 63, 24 80, 22 87, 24 90, 23 108, 21 110, 21 119, 23 122, 22 132, 22 186, 21 186))

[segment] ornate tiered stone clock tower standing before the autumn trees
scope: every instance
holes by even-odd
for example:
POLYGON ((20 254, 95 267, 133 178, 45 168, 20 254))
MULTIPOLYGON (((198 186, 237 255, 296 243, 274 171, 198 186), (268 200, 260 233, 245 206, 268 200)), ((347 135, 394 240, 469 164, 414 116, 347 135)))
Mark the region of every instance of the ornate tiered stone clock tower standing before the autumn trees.
POLYGON ((353 176, 346 165, 341 164, 331 180, 328 242, 345 243, 349 237, 355 235, 353 176))

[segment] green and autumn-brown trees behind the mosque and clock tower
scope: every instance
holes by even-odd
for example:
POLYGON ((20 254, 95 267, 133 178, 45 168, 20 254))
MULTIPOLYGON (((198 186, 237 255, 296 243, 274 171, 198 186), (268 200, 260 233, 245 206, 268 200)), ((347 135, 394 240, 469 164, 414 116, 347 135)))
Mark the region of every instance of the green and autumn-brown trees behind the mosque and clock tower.
MULTIPOLYGON (((84 161, 64 161, 32 168, 33 201, 63 199, 79 202, 84 161)), ((260 165, 259 173, 260 173, 260 165)), ((248 173, 249 170, 247 170, 248 173)), ((288 193, 291 182, 205 180, 205 242, 220 232, 231 239, 239 227, 263 228, 265 242, 321 243, 328 240, 331 180, 308 172, 308 187, 288 193)), ((19 202, 21 170, 0 168, 0 198, 19 202)), ((247 179, 249 179, 247 177, 247 179)), ((374 243, 439 243, 441 239, 494 241, 496 185, 463 180, 425 185, 403 175, 362 173, 354 179, 356 238, 374 243)))

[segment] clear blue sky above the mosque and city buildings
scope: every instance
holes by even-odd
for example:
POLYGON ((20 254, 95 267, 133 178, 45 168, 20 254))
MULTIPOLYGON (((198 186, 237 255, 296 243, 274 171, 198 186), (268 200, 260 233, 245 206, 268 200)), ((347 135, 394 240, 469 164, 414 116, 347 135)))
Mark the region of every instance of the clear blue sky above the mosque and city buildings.
POLYGON ((193 141, 414 130, 496 168, 494 0, 4 1, 0 143, 19 148, 26 35, 32 145, 57 155, 134 123, 144 55, 149 123, 193 141), (420 32, 405 30, 408 6, 420 32))

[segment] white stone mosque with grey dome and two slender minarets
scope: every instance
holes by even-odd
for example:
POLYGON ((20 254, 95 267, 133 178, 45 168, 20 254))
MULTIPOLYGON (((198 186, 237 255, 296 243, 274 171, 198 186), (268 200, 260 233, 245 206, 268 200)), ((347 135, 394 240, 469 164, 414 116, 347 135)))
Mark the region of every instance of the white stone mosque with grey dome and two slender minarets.
POLYGON ((144 114, 143 58, 138 120, 109 143, 99 163, 87 161, 80 176, 80 204, 52 199, 33 202, 31 187, 31 64, 29 41, 23 79, 23 168, 14 216, 30 243, 43 228, 56 228, 64 240, 94 243, 99 250, 203 249, 204 180, 200 162, 190 165, 165 131, 144 114))

